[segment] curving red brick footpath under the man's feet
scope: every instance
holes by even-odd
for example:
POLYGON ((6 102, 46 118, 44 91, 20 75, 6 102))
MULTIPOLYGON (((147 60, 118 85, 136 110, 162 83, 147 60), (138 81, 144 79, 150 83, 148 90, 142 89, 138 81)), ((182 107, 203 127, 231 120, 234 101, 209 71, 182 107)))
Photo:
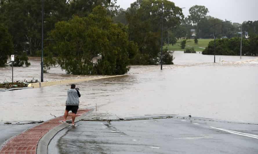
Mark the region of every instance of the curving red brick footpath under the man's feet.
MULTIPOLYGON (((89 111, 90 110, 78 110, 76 117, 79 117, 89 111)), ((71 119, 72 114, 70 113, 67 117, 67 120, 71 119)), ((61 120, 63 120, 63 116, 46 121, 15 136, 3 146, 0 154, 36 154, 39 140, 48 131, 50 131, 54 127, 61 125, 61 120)))

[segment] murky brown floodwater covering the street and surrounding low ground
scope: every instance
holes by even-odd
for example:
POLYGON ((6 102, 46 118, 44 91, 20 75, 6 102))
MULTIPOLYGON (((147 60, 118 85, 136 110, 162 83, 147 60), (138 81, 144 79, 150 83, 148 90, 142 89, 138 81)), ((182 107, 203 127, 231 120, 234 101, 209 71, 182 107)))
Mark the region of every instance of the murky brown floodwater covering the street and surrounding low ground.
MULTIPOLYGON (((80 108, 96 108, 119 117, 178 114, 218 120, 258 123, 257 57, 174 53, 175 65, 131 66, 129 76, 77 83, 80 108)), ((39 79, 40 62, 14 68, 14 80, 39 79), (26 72, 25 72, 26 71, 26 72)), ((0 82, 10 81, 11 68, 0 68, 0 82), (8 79, 9 78, 9 79, 8 79)), ((45 80, 94 76, 70 76, 52 68, 45 80)), ((38 121, 60 116, 69 85, 0 93, 0 122, 38 121)))

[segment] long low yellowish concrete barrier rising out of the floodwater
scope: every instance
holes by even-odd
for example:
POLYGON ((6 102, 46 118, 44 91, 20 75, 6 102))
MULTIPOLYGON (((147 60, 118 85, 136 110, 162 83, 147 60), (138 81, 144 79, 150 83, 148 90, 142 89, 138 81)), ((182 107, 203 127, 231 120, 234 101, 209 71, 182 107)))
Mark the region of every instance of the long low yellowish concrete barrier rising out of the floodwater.
POLYGON ((91 80, 100 80, 105 78, 115 78, 119 76, 128 76, 129 74, 124 75, 116 75, 116 76, 102 76, 98 78, 85 78, 85 79, 72 79, 72 80, 61 80, 61 81, 50 81, 50 82, 38 82, 38 83, 30 83, 28 87, 39 88, 39 87, 46 87, 46 86, 54 86, 59 84, 69 84, 69 83, 76 83, 76 82, 84 82, 84 81, 91 81, 91 80))

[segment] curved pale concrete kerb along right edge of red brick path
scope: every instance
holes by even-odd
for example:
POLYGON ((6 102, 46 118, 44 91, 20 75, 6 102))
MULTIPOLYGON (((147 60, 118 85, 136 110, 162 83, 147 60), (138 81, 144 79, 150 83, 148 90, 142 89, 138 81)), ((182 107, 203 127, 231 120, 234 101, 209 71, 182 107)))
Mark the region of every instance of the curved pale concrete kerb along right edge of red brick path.
MULTIPOLYGON (((75 122, 78 122, 85 118, 88 114, 90 114, 93 110, 88 111, 85 114, 82 114, 79 117, 75 118, 75 122)), ((37 145, 37 154, 47 154, 48 153, 48 144, 52 140, 52 138, 60 132, 62 129, 69 127, 70 125, 68 123, 62 123, 61 125, 58 125, 57 127, 54 127, 51 129, 48 133, 46 133, 38 142, 37 145)))

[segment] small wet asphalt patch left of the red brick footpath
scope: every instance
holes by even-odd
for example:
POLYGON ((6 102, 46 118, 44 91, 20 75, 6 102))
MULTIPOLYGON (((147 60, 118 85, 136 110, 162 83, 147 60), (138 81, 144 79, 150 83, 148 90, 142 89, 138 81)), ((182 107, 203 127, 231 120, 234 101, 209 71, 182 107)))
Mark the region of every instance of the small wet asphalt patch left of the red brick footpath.
POLYGON ((11 125, 11 124, 1 124, 0 125, 0 148, 1 145, 9 138, 20 134, 21 132, 35 126, 37 124, 23 124, 23 125, 11 125))

